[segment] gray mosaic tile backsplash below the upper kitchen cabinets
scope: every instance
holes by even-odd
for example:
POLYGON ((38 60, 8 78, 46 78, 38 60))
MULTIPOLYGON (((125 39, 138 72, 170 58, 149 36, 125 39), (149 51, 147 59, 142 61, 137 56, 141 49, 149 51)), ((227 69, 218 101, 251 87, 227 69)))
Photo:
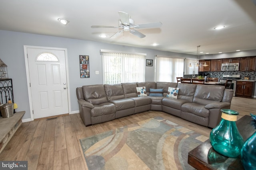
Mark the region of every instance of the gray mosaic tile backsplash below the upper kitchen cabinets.
MULTIPOLYGON (((222 78, 223 74, 240 74, 240 79, 243 80, 246 74, 249 76, 249 80, 256 80, 255 71, 209 71, 199 72, 198 75, 207 75, 208 77, 219 77, 222 78)), ((196 75, 196 76, 198 76, 196 75)), ((191 75, 184 75, 184 78, 192 78, 191 75)))

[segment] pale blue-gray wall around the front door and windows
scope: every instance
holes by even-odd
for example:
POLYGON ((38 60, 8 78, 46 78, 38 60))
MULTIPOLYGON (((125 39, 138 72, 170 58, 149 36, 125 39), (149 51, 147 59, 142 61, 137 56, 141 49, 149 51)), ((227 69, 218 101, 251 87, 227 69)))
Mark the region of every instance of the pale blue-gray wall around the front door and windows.
MULTIPOLYGON (((100 49, 146 53, 146 59, 153 60, 155 55, 195 58, 194 55, 182 53, 0 30, 0 58, 7 64, 8 77, 13 81, 14 101, 18 104, 16 111, 26 111, 23 119, 30 119, 24 45, 67 49, 71 111, 78 111, 76 87, 102 84, 100 49), (90 56, 90 78, 80 78, 79 55, 90 56), (96 75, 96 70, 99 70, 100 74, 96 75)), ((154 81, 154 66, 146 66, 146 81, 154 81)))

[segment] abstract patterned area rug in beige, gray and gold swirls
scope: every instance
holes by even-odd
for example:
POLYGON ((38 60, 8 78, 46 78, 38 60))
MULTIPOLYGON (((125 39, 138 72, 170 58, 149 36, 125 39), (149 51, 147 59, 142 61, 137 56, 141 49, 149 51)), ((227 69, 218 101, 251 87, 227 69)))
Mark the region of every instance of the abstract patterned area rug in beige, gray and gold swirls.
POLYGON ((208 137, 154 117, 80 139, 89 170, 194 170, 188 152, 208 137))

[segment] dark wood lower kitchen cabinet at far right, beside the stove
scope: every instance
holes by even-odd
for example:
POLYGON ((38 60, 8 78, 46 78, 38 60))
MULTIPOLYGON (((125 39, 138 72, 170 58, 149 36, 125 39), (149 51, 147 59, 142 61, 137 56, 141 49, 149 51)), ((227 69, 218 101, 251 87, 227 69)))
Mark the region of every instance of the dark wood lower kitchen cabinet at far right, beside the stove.
POLYGON ((252 89, 254 82, 250 81, 236 81, 236 96, 252 98, 252 89))

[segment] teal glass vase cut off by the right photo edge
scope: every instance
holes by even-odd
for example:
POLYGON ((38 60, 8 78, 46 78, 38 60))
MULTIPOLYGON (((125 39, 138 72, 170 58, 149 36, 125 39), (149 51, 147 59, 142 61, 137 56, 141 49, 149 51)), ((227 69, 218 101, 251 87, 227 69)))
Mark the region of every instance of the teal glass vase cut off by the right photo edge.
POLYGON ((256 132, 244 143, 241 160, 245 170, 256 170, 256 132))

